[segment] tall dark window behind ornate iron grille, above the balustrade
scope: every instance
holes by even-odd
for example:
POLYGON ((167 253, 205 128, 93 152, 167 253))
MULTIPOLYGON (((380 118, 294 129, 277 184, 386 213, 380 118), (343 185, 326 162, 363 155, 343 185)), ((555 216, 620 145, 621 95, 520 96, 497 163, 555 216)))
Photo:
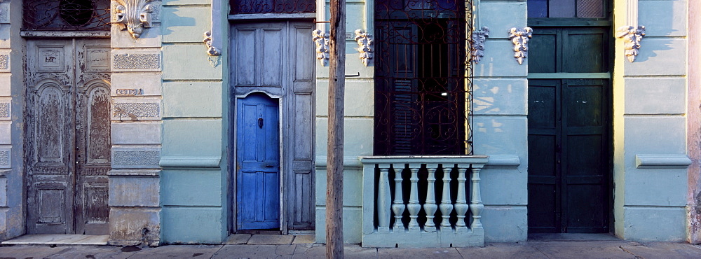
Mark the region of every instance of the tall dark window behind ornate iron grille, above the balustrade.
POLYGON ((375 2, 375 155, 471 155, 472 3, 375 2))

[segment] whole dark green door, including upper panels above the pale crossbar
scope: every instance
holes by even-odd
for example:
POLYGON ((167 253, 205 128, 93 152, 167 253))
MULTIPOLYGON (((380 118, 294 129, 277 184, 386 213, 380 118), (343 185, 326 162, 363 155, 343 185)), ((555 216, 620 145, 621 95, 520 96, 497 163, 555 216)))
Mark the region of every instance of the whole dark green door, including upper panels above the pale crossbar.
POLYGON ((608 30, 533 28, 529 232, 608 232, 608 30))

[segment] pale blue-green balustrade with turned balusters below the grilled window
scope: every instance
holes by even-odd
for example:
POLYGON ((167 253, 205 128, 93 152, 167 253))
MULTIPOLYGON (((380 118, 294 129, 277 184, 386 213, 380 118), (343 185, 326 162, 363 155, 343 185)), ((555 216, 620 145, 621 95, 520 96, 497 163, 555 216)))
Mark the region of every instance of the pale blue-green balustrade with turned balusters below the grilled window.
POLYGON ((388 156, 360 160, 364 190, 363 246, 484 246, 479 172, 487 162, 486 156, 388 156), (390 179, 390 169, 395 172, 394 179, 390 179), (404 169, 409 170, 407 174, 402 174, 404 169), (442 172, 439 183, 437 172, 442 172), (457 174, 451 177, 451 172, 457 174), (394 181, 394 189, 390 188, 390 181, 394 181), (411 182, 409 188, 402 188, 404 181, 411 182), (425 200, 418 196, 423 193, 419 186, 426 190, 425 200), (440 203, 436 201, 436 192, 440 192, 440 203), (409 200, 405 204, 407 196, 409 200), (436 228, 435 214, 439 209, 440 228, 436 228), (419 216, 422 210, 425 216, 419 216), (409 212, 407 218, 404 211, 409 212), (457 217, 451 223, 453 211, 457 217), (468 226, 470 216, 472 223, 468 226), (392 217, 395 222, 390 229, 392 217), (407 219, 409 223, 404 225, 407 219))

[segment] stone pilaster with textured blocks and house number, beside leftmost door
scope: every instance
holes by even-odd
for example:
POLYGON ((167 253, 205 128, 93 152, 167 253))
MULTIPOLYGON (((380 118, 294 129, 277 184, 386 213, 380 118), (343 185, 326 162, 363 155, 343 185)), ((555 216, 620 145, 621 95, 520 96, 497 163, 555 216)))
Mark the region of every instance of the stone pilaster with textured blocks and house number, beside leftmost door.
POLYGON ((109 244, 156 246, 161 243, 161 1, 112 1, 111 7, 109 244))

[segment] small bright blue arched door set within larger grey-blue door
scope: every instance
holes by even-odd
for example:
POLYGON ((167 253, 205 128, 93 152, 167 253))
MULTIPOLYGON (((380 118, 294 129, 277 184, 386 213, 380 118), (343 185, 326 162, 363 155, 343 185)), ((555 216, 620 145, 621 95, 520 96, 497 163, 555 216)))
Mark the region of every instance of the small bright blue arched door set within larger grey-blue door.
POLYGON ((250 94, 237 108, 238 229, 280 228, 278 100, 250 94))

